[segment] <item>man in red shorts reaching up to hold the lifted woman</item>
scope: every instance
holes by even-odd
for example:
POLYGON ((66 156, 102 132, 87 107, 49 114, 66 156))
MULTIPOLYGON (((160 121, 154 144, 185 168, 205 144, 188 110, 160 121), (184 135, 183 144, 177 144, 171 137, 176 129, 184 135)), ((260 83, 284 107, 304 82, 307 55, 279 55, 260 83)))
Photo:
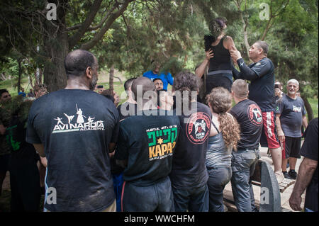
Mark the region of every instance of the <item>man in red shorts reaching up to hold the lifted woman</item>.
POLYGON ((274 172, 278 183, 284 180, 281 173, 281 147, 276 137, 274 110, 276 107, 274 98, 274 64, 268 55, 268 45, 263 41, 257 41, 250 47, 249 57, 252 64, 246 65, 240 52, 230 50, 230 56, 237 62, 240 72, 233 67, 234 77, 246 79, 250 82, 250 100, 256 102, 262 110, 264 132, 260 138, 262 147, 269 147, 274 164, 274 172))

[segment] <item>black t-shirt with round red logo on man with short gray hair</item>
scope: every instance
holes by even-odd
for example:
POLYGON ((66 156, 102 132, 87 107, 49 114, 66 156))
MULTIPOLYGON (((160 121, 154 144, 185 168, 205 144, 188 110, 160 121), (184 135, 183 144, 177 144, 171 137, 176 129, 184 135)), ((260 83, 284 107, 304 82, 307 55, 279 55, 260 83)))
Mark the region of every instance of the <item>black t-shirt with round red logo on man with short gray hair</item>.
POLYGON ((262 135, 262 111, 257 103, 244 100, 230 109, 230 113, 240 124, 240 141, 238 149, 257 149, 262 135))

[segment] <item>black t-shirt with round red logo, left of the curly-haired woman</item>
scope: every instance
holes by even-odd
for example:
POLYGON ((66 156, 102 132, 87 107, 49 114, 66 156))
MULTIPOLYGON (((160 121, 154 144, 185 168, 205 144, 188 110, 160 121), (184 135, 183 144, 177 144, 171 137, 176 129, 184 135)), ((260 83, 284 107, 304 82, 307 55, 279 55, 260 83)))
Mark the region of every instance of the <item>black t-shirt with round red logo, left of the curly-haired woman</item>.
POLYGON ((198 102, 192 102, 191 108, 195 111, 190 115, 179 116, 181 133, 169 175, 177 188, 200 187, 208 180, 206 151, 211 131, 211 110, 198 102))

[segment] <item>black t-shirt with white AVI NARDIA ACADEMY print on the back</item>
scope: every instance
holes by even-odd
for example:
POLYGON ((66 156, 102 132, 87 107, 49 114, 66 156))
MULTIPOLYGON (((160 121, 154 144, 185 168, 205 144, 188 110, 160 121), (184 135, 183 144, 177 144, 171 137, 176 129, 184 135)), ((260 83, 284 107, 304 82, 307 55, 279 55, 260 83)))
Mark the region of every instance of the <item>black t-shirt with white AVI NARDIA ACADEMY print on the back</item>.
POLYGON ((42 143, 48 187, 57 203, 50 211, 99 211, 115 199, 108 144, 118 136, 118 111, 94 91, 62 89, 35 100, 26 141, 42 143))

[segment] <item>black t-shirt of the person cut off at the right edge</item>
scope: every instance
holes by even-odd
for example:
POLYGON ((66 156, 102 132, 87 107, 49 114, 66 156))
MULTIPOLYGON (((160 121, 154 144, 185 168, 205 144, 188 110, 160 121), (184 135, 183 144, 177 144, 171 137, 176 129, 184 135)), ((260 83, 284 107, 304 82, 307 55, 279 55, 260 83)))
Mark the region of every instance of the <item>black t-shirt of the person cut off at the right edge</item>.
MULTIPOLYGON (((300 154, 318 162, 318 118, 310 121, 300 154)), ((306 191, 305 207, 318 212, 318 165, 306 191)))

